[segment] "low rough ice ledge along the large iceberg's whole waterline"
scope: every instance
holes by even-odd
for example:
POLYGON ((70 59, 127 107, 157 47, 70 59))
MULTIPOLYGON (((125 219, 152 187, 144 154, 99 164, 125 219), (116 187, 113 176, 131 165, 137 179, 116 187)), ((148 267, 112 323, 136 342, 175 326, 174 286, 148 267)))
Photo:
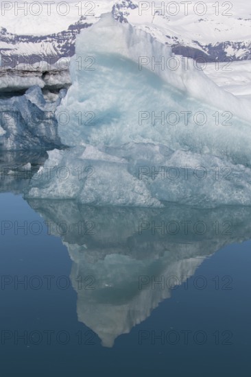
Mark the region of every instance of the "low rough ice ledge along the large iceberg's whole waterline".
POLYGON ((48 154, 45 171, 31 180, 26 197, 98 206, 251 205, 251 169, 212 155, 149 143, 48 154))

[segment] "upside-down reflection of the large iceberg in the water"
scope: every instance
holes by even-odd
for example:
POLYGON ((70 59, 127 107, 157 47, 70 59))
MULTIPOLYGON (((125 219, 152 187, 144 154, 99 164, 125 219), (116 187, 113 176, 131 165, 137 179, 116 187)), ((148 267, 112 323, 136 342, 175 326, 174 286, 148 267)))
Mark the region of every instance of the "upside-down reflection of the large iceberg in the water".
MULTIPOLYGON (((12 170, 8 158, 1 156, 1 164, 12 170)), ((32 165, 38 169, 45 158, 33 156, 32 165)), ((19 156, 19 165, 25 165, 25 158, 19 156)), ((10 174, 1 190, 22 193, 28 181, 10 174)), ((77 317, 106 347, 149 317, 205 258, 251 238, 249 207, 91 207, 47 199, 27 203, 67 247, 77 317)))

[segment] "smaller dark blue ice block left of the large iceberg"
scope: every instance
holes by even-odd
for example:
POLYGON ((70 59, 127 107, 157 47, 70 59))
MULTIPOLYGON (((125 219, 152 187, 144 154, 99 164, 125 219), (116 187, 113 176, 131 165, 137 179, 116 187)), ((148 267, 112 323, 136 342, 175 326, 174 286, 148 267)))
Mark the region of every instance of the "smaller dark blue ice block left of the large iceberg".
POLYGON ((25 95, 0 99, 0 149, 51 149, 62 144, 58 137, 55 110, 61 97, 46 102, 38 86, 25 95))

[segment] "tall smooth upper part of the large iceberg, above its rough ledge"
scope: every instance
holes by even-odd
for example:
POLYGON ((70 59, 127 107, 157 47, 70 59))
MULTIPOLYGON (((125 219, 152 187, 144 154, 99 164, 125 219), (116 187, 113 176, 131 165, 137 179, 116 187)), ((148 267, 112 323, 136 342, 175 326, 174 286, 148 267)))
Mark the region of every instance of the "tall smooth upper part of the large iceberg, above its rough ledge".
POLYGON ((174 57, 177 69, 153 69, 162 58, 171 58, 169 47, 109 14, 81 32, 73 85, 57 109, 62 142, 163 143, 250 165, 250 101, 219 88, 192 60, 184 67, 174 57))

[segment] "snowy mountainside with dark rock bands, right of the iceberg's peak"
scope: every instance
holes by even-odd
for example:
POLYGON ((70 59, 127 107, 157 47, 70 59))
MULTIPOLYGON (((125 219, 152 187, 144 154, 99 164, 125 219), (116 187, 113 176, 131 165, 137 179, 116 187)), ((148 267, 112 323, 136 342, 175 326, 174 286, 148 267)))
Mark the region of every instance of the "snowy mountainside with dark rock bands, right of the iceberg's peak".
POLYGON ((112 13, 121 22, 145 29, 178 55, 206 62, 251 58, 251 14, 245 0, 124 0, 113 6, 112 13))

